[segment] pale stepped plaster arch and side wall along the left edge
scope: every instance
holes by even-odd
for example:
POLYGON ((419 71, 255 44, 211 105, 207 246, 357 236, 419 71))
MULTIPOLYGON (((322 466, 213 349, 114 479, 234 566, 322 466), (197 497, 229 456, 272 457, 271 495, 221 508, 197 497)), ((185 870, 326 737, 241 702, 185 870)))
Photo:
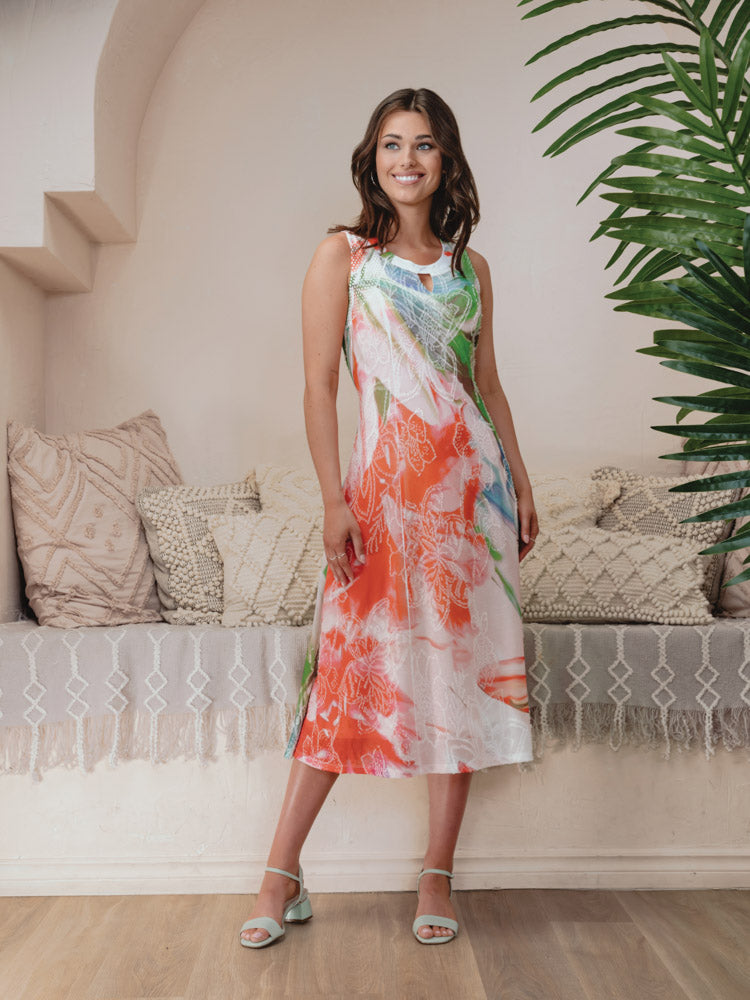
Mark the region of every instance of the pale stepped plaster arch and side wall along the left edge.
MULTIPOLYGON (((203 0, 8 0, 0 7, 0 425, 45 430, 47 293, 90 292, 100 243, 137 237, 136 150, 151 94, 203 0), (59 44, 61 31, 69 34, 59 44)), ((19 612, 5 447, 0 621, 19 612)))

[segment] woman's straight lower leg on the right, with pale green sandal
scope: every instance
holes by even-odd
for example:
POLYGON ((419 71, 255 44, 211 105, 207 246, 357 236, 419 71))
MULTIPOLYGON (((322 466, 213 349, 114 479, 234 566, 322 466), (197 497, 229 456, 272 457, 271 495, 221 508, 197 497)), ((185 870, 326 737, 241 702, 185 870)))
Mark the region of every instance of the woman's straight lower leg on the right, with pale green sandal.
MULTIPOLYGON (((423 868, 445 868, 453 871, 453 853, 456 849, 461 820, 469 796, 472 772, 461 774, 428 774, 427 789, 430 797, 430 839, 423 868)), ((449 899, 450 879, 445 875, 423 875, 419 883, 419 903, 416 916, 434 913, 456 919, 449 899)), ((434 935, 452 937, 449 927, 427 925, 417 931, 420 937, 434 935)))

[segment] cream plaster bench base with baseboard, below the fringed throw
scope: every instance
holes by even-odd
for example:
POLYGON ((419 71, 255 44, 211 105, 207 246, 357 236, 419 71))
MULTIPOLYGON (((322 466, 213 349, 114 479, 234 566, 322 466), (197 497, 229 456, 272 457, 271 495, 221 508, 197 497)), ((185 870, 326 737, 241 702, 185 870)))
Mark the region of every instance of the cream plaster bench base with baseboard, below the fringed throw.
MULTIPOLYGON (((289 764, 228 755, 6 775, 0 892, 256 892, 289 764)), ((739 751, 665 760, 584 745, 548 750, 533 771, 490 768, 472 779, 455 888, 747 889, 748 791, 739 751)), ((342 775, 303 850, 310 891, 413 891, 427 804, 423 776, 342 775)))

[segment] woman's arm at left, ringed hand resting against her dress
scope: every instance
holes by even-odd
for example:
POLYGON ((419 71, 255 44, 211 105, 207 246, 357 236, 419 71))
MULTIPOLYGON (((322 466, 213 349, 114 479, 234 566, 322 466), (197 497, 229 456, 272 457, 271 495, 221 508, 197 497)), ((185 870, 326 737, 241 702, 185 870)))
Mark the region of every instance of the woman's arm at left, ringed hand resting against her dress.
POLYGON ((364 562, 362 535, 341 485, 336 414, 349 266, 347 238, 334 233, 317 247, 302 285, 305 430, 323 496, 323 546, 339 583, 354 577, 348 539, 356 557, 364 562), (345 552, 343 558, 333 558, 345 552))

